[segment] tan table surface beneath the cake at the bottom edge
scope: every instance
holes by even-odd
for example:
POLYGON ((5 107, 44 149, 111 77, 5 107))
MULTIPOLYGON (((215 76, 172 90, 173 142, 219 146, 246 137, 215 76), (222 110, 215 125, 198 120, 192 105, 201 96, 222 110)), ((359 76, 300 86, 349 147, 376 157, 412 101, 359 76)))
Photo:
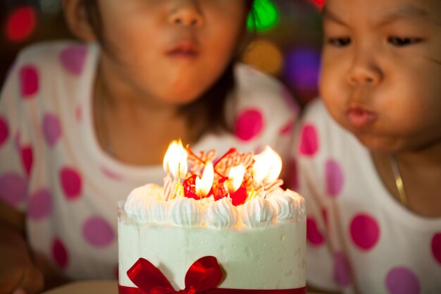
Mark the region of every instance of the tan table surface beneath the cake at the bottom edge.
MULTIPOLYGON (((82 281, 46 291, 42 294, 118 294, 116 281, 82 281)), ((308 294, 320 294, 311 293, 308 294)))

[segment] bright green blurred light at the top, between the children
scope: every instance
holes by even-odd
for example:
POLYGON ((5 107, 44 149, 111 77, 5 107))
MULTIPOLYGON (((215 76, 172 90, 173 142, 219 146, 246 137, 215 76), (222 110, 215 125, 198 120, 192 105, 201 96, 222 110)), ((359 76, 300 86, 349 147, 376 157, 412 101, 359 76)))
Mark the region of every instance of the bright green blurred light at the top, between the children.
POLYGON ((279 11, 271 0, 254 1, 256 20, 253 21, 251 14, 248 16, 247 27, 249 30, 263 32, 275 27, 279 21, 279 11))

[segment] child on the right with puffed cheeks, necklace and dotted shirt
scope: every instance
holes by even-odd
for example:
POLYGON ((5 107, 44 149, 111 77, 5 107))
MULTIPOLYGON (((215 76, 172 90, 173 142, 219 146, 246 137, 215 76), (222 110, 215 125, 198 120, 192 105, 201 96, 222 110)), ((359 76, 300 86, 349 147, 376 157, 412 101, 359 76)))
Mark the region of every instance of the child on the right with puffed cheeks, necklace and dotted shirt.
POLYGON ((328 0, 299 132, 311 286, 441 293, 441 1, 328 0))

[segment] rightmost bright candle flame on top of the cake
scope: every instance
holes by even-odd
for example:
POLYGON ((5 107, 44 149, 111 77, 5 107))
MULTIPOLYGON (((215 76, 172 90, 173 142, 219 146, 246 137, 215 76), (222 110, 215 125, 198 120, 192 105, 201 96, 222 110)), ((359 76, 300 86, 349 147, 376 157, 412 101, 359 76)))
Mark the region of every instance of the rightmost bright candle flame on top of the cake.
POLYGON ((282 171, 282 158, 271 147, 266 147, 263 152, 254 155, 253 177, 256 185, 272 183, 277 180, 282 171))

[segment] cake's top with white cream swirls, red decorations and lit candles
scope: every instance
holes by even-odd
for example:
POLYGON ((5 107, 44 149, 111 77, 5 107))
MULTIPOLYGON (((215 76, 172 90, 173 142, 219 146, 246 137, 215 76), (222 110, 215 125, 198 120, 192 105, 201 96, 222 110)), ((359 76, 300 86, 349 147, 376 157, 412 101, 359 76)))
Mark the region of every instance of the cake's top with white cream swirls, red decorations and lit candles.
POLYGON ((231 148, 195 154, 173 141, 163 160, 163 187, 132 190, 125 212, 146 223, 211 228, 259 227, 304 219, 304 200, 282 190, 282 159, 266 147, 260 154, 231 148))

